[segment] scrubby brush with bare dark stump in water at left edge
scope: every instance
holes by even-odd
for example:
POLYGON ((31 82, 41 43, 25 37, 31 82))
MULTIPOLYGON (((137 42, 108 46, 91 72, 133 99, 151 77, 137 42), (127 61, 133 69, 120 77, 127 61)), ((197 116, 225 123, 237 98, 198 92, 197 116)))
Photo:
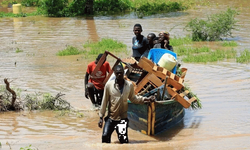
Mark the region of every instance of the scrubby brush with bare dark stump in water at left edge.
POLYGON ((0 85, 0 112, 15 110, 52 110, 59 111, 59 116, 74 115, 83 117, 83 114, 75 110, 69 102, 62 97, 64 94, 58 93, 52 96, 50 93, 27 94, 21 97, 21 89, 10 88, 7 79, 4 79, 6 86, 0 85))

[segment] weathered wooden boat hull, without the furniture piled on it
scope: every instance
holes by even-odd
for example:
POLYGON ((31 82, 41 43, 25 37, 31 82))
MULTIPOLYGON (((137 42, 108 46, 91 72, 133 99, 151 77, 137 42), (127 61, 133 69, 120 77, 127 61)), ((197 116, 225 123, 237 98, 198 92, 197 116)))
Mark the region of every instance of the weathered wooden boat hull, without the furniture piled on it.
POLYGON ((128 101, 129 127, 147 135, 163 132, 184 117, 183 106, 175 100, 133 104, 128 101))

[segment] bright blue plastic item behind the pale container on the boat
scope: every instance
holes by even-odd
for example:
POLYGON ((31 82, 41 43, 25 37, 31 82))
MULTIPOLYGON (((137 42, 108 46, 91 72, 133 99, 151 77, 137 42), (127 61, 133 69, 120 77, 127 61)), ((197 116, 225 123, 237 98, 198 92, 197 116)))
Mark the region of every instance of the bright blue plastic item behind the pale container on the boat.
MULTIPOLYGON (((175 57, 177 60, 177 54, 175 52, 172 52, 167 49, 162 49, 162 48, 153 48, 149 51, 148 53, 148 59, 152 60, 154 63, 158 63, 159 60, 161 59, 161 56, 164 55, 165 53, 171 54, 175 57)), ((177 66, 177 65, 176 65, 177 66)), ((172 72, 176 74, 177 67, 174 67, 172 72)))

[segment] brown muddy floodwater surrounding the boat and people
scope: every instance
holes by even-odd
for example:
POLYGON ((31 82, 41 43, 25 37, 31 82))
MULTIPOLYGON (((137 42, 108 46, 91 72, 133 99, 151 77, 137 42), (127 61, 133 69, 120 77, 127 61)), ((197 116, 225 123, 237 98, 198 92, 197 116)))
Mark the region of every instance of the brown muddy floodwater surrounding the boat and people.
MULTIPOLYGON (((250 1, 211 0, 211 6, 197 6, 138 19, 133 15, 93 18, 0 18, 0 84, 8 78, 23 94, 49 92, 65 94, 64 99, 82 110, 84 117, 60 117, 56 113, 0 113, 1 150, 20 149, 32 144, 39 150, 81 149, 250 149, 250 65, 235 60, 215 63, 182 63, 192 91, 201 99, 203 109, 186 109, 183 121, 156 136, 129 129, 129 144, 119 144, 113 133, 111 144, 101 144, 99 117, 91 111, 84 96, 84 75, 88 56, 56 56, 67 45, 81 48, 88 40, 110 37, 125 43, 131 54, 135 23, 142 24, 143 35, 171 30, 171 36, 186 36, 184 26, 191 18, 237 7, 238 30, 233 35, 238 53, 250 49, 250 1), (23 52, 16 53, 16 49, 23 52), (15 65, 16 63, 16 65, 15 65), (8 143, 8 144, 6 144, 8 143)), ((0 11, 10 11, 0 7, 0 11)), ((213 45, 213 42, 204 44, 213 45)), ((126 56, 126 57, 127 57, 126 56)), ((119 57, 124 57, 120 54, 119 57)), ((110 62, 114 63, 113 61, 110 62)))

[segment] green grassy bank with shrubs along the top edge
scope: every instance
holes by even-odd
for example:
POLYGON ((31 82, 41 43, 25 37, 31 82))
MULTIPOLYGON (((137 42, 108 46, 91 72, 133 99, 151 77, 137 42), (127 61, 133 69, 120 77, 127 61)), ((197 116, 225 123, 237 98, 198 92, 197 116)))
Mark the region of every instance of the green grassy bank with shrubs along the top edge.
MULTIPOLYGON (((21 3, 24 7, 37 7, 37 12, 1 13, 0 17, 26 17, 34 15, 47 15, 54 17, 74 17, 88 15, 85 10, 86 0, 4 0, 3 6, 8 3, 21 3)), ((157 13, 183 11, 198 4, 204 4, 205 0, 94 0, 93 15, 117 15, 134 12, 138 17, 144 17, 157 13)))

